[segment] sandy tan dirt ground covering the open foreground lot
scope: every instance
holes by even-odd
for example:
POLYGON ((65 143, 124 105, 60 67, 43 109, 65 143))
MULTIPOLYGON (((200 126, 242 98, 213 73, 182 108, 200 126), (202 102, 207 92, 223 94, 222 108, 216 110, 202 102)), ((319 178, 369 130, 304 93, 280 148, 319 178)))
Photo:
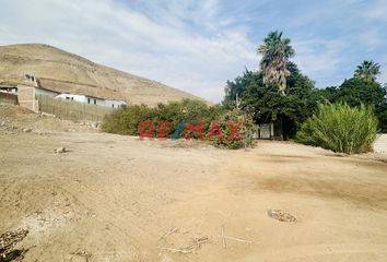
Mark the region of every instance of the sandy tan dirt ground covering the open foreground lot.
POLYGON ((0 167, 0 234, 28 230, 15 246, 23 261, 387 258, 379 156, 285 142, 223 151, 140 141, 1 110, 0 167), (68 152, 54 153, 60 146, 68 152))

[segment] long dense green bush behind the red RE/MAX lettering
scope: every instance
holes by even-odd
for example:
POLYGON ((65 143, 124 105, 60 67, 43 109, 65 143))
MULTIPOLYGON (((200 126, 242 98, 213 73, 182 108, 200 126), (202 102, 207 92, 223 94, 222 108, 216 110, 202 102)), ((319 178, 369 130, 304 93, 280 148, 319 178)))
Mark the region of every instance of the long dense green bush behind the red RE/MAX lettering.
MULTIPOLYGON (((208 134, 211 132, 215 122, 219 123, 222 131, 223 140, 220 136, 214 135, 211 143, 218 147, 224 148, 241 148, 251 145, 251 138, 254 134, 254 128, 256 124, 253 118, 249 117, 241 110, 225 111, 220 106, 209 107, 207 104, 198 100, 183 100, 173 102, 168 104, 159 104, 156 107, 150 108, 146 106, 127 106, 115 110, 110 115, 105 117, 102 124, 102 130, 109 133, 128 134, 128 135, 139 135, 140 134, 140 123, 141 122, 152 122, 153 138, 157 138, 161 132, 159 132, 159 123, 169 122, 167 128, 164 127, 164 138, 172 138, 175 135, 175 131, 179 128, 179 123, 185 123, 181 132, 177 132, 177 138, 186 138, 187 129, 192 128, 192 126, 202 124, 202 138, 208 139, 208 134), (237 129, 243 140, 234 138, 227 140, 232 130, 230 123, 234 126, 237 122, 242 122, 241 127, 237 129), (192 126, 190 126, 190 123, 192 126)), ((189 132, 191 139, 199 139, 200 132, 189 132)))

